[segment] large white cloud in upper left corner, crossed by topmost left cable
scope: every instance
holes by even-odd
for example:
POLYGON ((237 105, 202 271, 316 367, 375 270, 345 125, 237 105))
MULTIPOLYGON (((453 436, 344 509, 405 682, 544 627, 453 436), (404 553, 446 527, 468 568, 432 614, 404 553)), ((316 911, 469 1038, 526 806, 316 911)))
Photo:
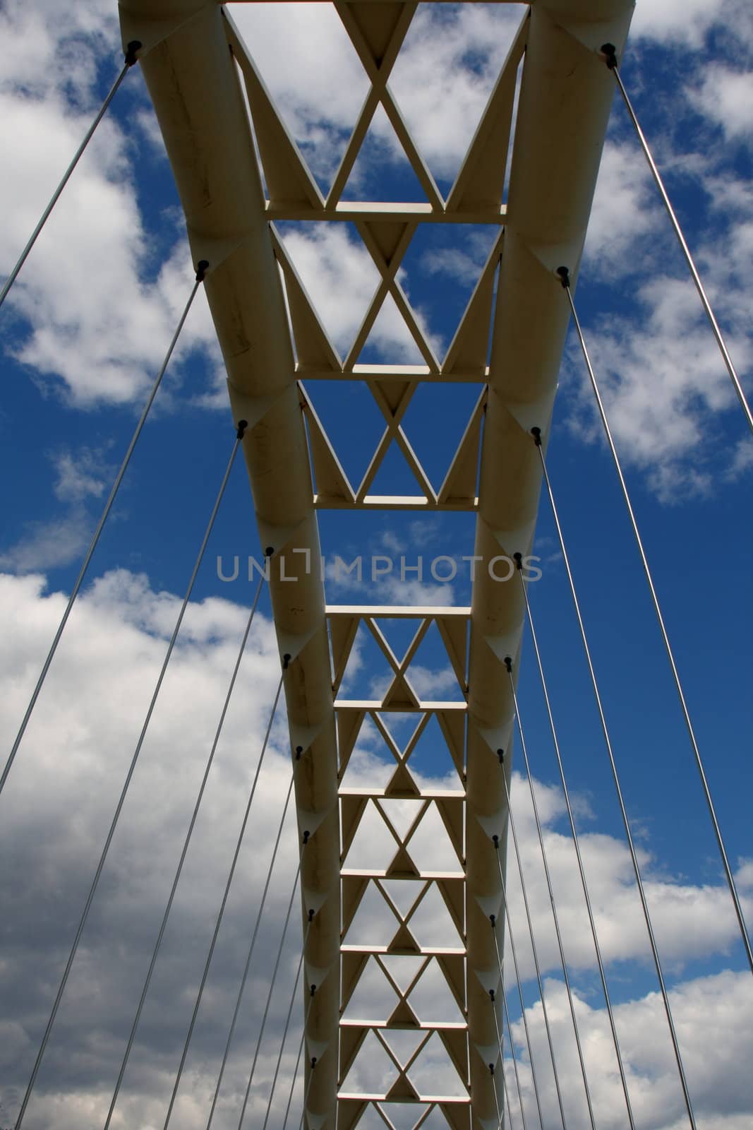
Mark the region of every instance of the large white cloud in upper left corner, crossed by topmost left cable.
MULTIPOLYGON (((46 18, 41 5, 12 3, 0 19, 12 60, 0 87, 0 146, 14 155, 0 185, 0 263, 9 271, 91 121, 100 97, 97 61, 105 43, 114 51, 119 33, 115 10, 103 3, 77 6, 65 21, 46 18)), ((138 101, 141 81, 135 69, 119 96, 138 101)), ((142 393, 192 285, 177 227, 172 253, 156 269, 154 236, 137 200, 131 144, 107 115, 3 310, 5 318, 10 310, 19 315, 8 351, 37 379, 62 381, 79 405, 123 403, 142 393)), ((201 296, 176 363, 200 347, 216 365, 212 341, 201 296)))

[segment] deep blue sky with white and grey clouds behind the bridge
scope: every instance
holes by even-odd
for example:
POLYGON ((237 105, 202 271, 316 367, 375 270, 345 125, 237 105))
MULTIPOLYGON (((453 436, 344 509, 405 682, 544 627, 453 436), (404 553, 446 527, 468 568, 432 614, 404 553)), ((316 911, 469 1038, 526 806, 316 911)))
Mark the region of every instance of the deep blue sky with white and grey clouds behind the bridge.
MULTIPOLYGON (((517 5, 426 5, 413 19, 391 87, 443 192, 459 167, 520 10, 517 5)), ((234 5, 233 15, 325 191, 367 90, 334 9, 324 3, 292 9, 234 5)), ((52 0, 5 0, 0 33, 0 148, 6 155, 0 177, 0 272, 5 273, 121 63, 114 0, 79 0, 64 20, 52 0)), ((753 14, 745 0, 727 0, 724 6, 720 0, 639 0, 623 75, 743 374, 750 373, 753 357, 752 63, 753 14)), ((386 116, 377 114, 345 197, 412 200, 420 198, 420 191, 386 116)), ((431 231, 419 231, 409 249, 401 280, 432 347, 441 354, 492 233, 471 228, 457 236, 441 225, 427 228, 431 231)), ((333 229, 282 225, 280 237, 332 339, 345 354, 376 285, 366 250, 347 225, 333 229)), ((6 389, 0 407, 6 484, 0 542, 5 748, 12 742, 62 614, 64 593, 192 281, 169 167, 135 68, 0 310, 6 389)), ((753 445, 616 103, 578 303, 751 921, 753 719, 746 515, 753 445)), ((361 359, 413 360, 411 349, 396 311, 386 308, 361 359)), ((357 481, 380 432, 376 406, 357 385, 333 389, 321 382, 308 391, 351 481, 357 481)), ((474 386, 424 389, 409 409, 408 434, 435 486, 476 395, 474 386), (429 397, 439 406, 431 427, 420 410, 429 397)), ((2 1128, 12 1125, 18 1113, 229 455, 230 423, 219 351, 200 294, 0 798, 2 1128)), ((703 1130, 743 1130, 753 1116, 750 973, 618 486, 595 423, 580 357, 570 340, 550 469, 640 846, 698 1124, 703 1130)), ((399 459, 388 460, 380 475, 375 493, 415 494, 411 472, 399 459)), ((412 563, 420 553, 470 553, 473 518, 325 513, 321 529, 331 558, 384 553, 403 554, 412 563)), ((633 1109, 641 1130, 675 1130, 686 1125, 686 1118, 578 651, 567 579, 545 507, 536 551, 543 577, 532 585, 533 610, 578 801, 633 1109)), ((217 558, 229 566, 235 555, 245 559, 249 554, 259 556, 259 544, 247 480, 238 466, 28 1107, 24 1122, 28 1130, 104 1124, 251 601, 243 571, 238 581, 224 583, 217 575, 217 558)), ((332 574, 327 581, 332 602, 463 605, 469 596, 462 572, 445 585, 431 579, 401 585, 387 577, 358 588, 332 574)), ((597 1121, 611 1130, 625 1124, 619 1079, 531 651, 525 649, 520 711, 578 994, 597 1121)), ((113 1118, 119 1130, 159 1130, 164 1124, 269 721, 278 680, 275 653, 264 596, 113 1118)), ((357 696, 378 686, 384 671, 368 641, 359 641, 354 659, 348 687, 357 696)), ((452 696, 452 679, 431 646, 421 657, 418 683, 426 696, 452 696)), ((427 748, 419 760, 421 773, 444 780, 444 764, 427 748)), ((351 764, 357 780, 378 777, 382 749, 378 737, 366 730, 351 764)), ((289 772, 281 706, 178 1092, 174 1119, 186 1130, 207 1124, 289 772)), ((566 1107, 571 1124, 581 1125, 583 1086, 526 788, 516 774, 514 808, 566 1107)), ((360 845, 353 846, 360 851, 360 845)), ((219 1096, 213 1122, 218 1130, 237 1125, 296 855, 295 823, 289 819, 219 1096)), ((514 867, 509 893, 516 939, 522 939, 533 1054, 541 1064, 546 1120, 555 1125, 541 1005, 514 867)), ((431 913, 429 907, 427 931, 439 929, 431 913)), ((283 946, 279 991, 246 1125, 261 1125, 266 1110, 297 963, 297 920, 295 925, 283 946)), ((359 923, 359 929, 373 928, 374 919, 359 923)), ((374 1001, 382 991, 377 981, 366 985, 374 1001)), ((526 1111, 531 1110, 529 1124, 535 1124, 527 1049, 514 994, 509 1003, 526 1111)), ((282 1127, 299 1032, 296 1012, 272 1130, 282 1127)), ((429 1050, 419 1078, 430 1079, 440 1069, 441 1057, 429 1050)), ((384 1077, 384 1064, 375 1053, 351 1083, 377 1086, 384 1077)), ((291 1118, 289 1125, 298 1122, 300 1095, 296 1103, 295 1122, 291 1118)), ((412 1127, 405 1112, 395 1119, 397 1130, 412 1127)), ((440 1124, 438 1115, 424 1123, 440 1124)), ((515 1101, 513 1124, 519 1124, 515 1101)), ((375 1130, 384 1123, 370 1112, 361 1125, 375 1130)))

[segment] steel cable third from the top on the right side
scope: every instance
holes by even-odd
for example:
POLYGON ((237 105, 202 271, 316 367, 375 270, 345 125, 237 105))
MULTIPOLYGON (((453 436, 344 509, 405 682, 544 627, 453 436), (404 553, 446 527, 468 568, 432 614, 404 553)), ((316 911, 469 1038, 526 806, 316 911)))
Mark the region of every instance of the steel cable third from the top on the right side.
MULTIPOLYGON (((541 429, 532 428, 532 434, 537 445, 541 444, 541 429)), ((612 747, 612 738, 610 737, 608 725, 606 724, 606 714, 604 713, 604 704, 602 702, 602 695, 598 689, 598 680, 596 679, 596 671, 594 668, 590 647, 588 645, 588 637, 586 635, 586 627, 583 620, 583 615, 580 612, 580 601, 578 600, 578 593, 575 586, 575 580, 572 577, 572 571, 570 568, 570 558, 568 557, 567 548, 564 545, 564 536, 562 533, 562 527, 560 524, 559 514, 557 506, 554 504, 554 493, 552 490, 552 484, 549 478, 549 472, 546 470, 546 463, 544 460, 543 451, 540 446, 540 455, 544 472, 544 480, 546 483, 546 490, 549 493, 549 501, 552 507, 552 514, 554 518, 554 524, 557 525, 557 534, 560 544, 560 549, 562 553, 562 560, 564 563, 564 568, 568 574, 568 582, 570 585, 570 594, 572 597, 572 603, 576 610, 576 616, 578 618, 578 628, 580 631, 580 638, 583 641, 584 652, 586 654, 586 661, 588 663, 588 673, 590 676, 590 685, 594 690, 594 698, 596 699, 596 707, 598 710, 598 718, 602 725, 602 733, 604 734, 604 745, 606 747, 606 753, 610 759, 610 767, 612 770, 612 780, 614 781, 614 789, 618 797, 618 802, 620 806, 620 814, 622 816, 622 824, 625 831, 625 841, 628 843, 628 850, 630 852, 630 860, 632 863, 633 875, 636 876, 636 886, 638 888, 638 895, 640 897, 641 909, 643 911, 643 920, 646 922, 646 930, 648 933, 648 940, 651 949, 651 956, 654 958, 654 967, 656 970, 656 977, 659 983, 659 989, 662 991, 662 1000, 664 1003, 664 1011, 667 1018, 667 1026, 669 1028, 669 1036, 672 1038, 672 1048, 674 1051, 675 1060, 677 1063, 677 1072, 680 1075, 680 1083, 682 1086, 683 1098, 685 1102, 685 1107, 688 1110, 688 1118, 690 1124, 695 1130, 695 1116, 693 1114, 693 1107, 690 1099, 690 1092, 688 1089, 688 1080, 685 1078, 685 1068, 683 1064, 682 1053, 680 1051, 680 1043, 677 1041, 677 1033, 675 1031, 674 1018, 672 1016, 672 1007, 669 1005, 669 996, 667 993, 666 984, 664 981, 664 973, 662 971, 662 960, 659 958, 659 950, 656 944, 656 937, 654 935, 654 925, 651 922, 651 914, 648 909, 648 899, 646 897, 646 892, 643 889, 643 879, 640 871, 640 864, 638 862, 638 854, 636 852, 636 845, 632 837, 632 832, 630 828, 630 820, 628 819, 628 809, 625 808, 624 797, 622 796, 622 785, 620 783, 620 774, 618 772, 618 764, 614 758, 614 749, 612 747)))

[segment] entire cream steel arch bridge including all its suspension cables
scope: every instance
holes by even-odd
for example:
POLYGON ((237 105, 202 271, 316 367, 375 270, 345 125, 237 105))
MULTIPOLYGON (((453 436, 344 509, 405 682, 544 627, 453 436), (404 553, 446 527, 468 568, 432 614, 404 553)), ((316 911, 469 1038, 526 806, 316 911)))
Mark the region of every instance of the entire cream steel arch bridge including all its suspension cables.
MULTIPOLYGON (((6 764, 3 788, 6 781, 12 781, 16 757, 23 759, 24 734, 37 695, 54 663, 89 559, 200 289, 205 293, 221 349, 235 435, 229 433, 225 475, 103 841, 62 981, 52 990, 52 1012, 41 1034, 36 1060, 33 1067, 29 1064, 30 1081, 14 1114, 15 1125, 19 1130, 23 1123, 37 1124, 32 1121, 33 1105, 26 1115, 27 1104, 54 1031, 58 1008, 64 1000, 69 974, 76 968, 79 942, 86 936, 89 911, 175 652, 193 583, 239 455, 245 460, 249 494, 247 510, 240 514, 236 510, 235 522, 244 530, 253 530, 255 522, 260 549, 249 567, 254 599, 161 927, 155 937, 151 960, 143 968, 146 980, 135 996, 133 1024, 124 1040, 117 1078, 112 1080, 114 1093, 105 1130, 111 1122, 126 1124, 119 1112, 121 1087, 131 1052, 138 1046, 142 1008, 149 999, 152 972, 225 712, 234 689, 236 695, 243 693, 239 664, 264 590, 269 590, 274 621, 277 651, 271 662, 275 664, 279 681, 269 703, 261 757, 176 1063, 165 1127, 172 1116, 180 1118, 173 1111, 181 1077, 243 837, 247 826, 253 826, 260 805, 256 797, 254 806, 254 798, 262 762, 275 719, 283 710, 291 774, 288 800, 269 867, 265 864, 263 896, 253 936, 248 938, 251 950, 235 1010, 228 1017, 225 1054, 216 1087, 212 1084, 207 1125, 218 1110, 222 1072, 233 1049, 252 954, 260 929, 263 930, 264 901, 277 885, 272 875, 278 849, 284 845, 286 837, 290 840, 290 826, 286 823, 288 802, 295 805, 298 863, 290 876, 292 889, 286 904, 286 929, 289 925, 291 931, 297 930, 303 945, 292 994, 287 1012, 283 1010, 279 1051, 277 1033, 265 1032, 264 1025, 278 974, 283 968, 284 930, 279 949, 270 954, 264 982, 268 993, 262 993, 263 1019, 253 1062, 248 1064, 248 1084, 238 1111, 239 1127, 244 1119, 245 1124, 256 1124, 259 1115, 248 1103, 251 1097, 253 1105, 256 1095, 254 1071, 269 1049, 272 1059, 277 1057, 277 1066, 264 1127, 294 1125, 298 1119, 307 1130, 351 1130, 356 1125, 366 1130, 378 1124, 392 1130, 418 1130, 420 1125, 501 1130, 502 1125, 549 1128, 560 1123, 590 1125, 595 1130, 607 1124, 649 1124, 637 1118, 633 1109, 636 1083, 624 1066, 602 955, 597 907, 589 889, 577 814, 568 788, 568 750, 558 741, 545 657, 539 647, 529 599, 539 560, 534 557, 534 538, 540 506, 554 522, 557 553, 567 572, 576 614, 575 643, 585 649, 602 755, 615 789, 636 884, 634 913, 642 916, 647 931, 684 1119, 691 1127, 701 1125, 693 1110, 693 1078, 684 1061, 653 927, 640 843, 621 785, 620 753, 612 739, 608 710, 599 689, 570 568, 567 530, 558 511, 557 481, 548 468, 558 375, 568 330, 573 327, 580 364, 604 426, 618 490, 627 504, 625 521, 634 536, 637 567, 642 565, 648 581, 658 621, 656 646, 666 651, 678 694, 688 731, 689 772, 691 767, 700 772, 699 788, 736 920, 736 944, 742 944, 753 972, 744 899, 737 890, 734 861, 728 857, 717 818, 706 774, 706 751, 695 734, 682 671, 674 658, 659 593, 610 431, 598 365, 589 354, 577 310, 584 241, 615 90, 618 96, 623 95, 634 119, 620 71, 633 6, 630 0, 531 3, 511 38, 459 171, 449 190, 443 192, 389 85, 419 5, 392 0, 335 3, 362 68, 366 96, 326 194, 264 82, 254 44, 244 42, 240 21, 234 18, 236 7, 243 6, 209 0, 121 0, 120 3, 125 63, 111 95, 117 96, 117 87, 128 81, 131 69, 141 71, 180 194, 195 282, 28 703, 6 764), (386 116, 423 199, 369 200, 353 191, 353 183, 358 185, 353 171, 377 114, 386 116), (347 227, 368 252, 376 287, 344 351, 329 334, 286 241, 286 232, 296 224, 309 225, 310 232, 347 227), (403 262, 412 241, 420 240, 428 227, 437 224, 469 232, 483 227, 489 247, 465 311, 441 356, 402 281, 403 262), (391 311, 389 316, 400 320, 420 360, 386 364, 364 359, 369 337, 386 310, 391 311), (338 391, 333 392, 335 385, 338 391), (436 418, 439 433, 440 392, 455 385, 467 386, 472 400, 467 418, 458 428, 456 446, 443 453, 446 471, 438 480, 412 445, 406 420, 420 405, 424 427, 432 427, 436 418), (319 397, 319 388, 329 390, 330 397, 340 397, 342 405, 351 406, 344 410, 353 412, 354 421, 361 405, 352 393, 354 388, 366 390, 378 409, 378 438, 374 451, 366 453, 366 470, 359 481, 349 477, 348 460, 329 434, 324 414, 317 411, 317 405, 326 399, 324 394, 319 397), (395 451, 414 480, 411 494, 378 493, 377 483, 395 451), (369 530, 378 530, 377 523, 385 513, 393 512, 417 516, 474 515, 474 534, 464 546, 454 546, 453 555, 437 557, 430 564, 427 556, 426 564, 420 566, 412 560, 406 564, 404 557, 395 565, 384 554, 378 566, 360 557, 357 563, 338 559, 319 566, 321 522, 330 512, 352 515, 353 529, 366 530, 366 538, 369 530), (356 527, 361 520, 366 524, 356 527), (349 579, 354 570, 360 574, 362 568, 368 572, 376 567, 375 575, 385 575, 389 570, 400 573, 401 581, 410 582, 421 581, 420 571, 426 567, 430 568, 431 579, 441 583, 454 579, 461 558, 467 563, 472 577, 467 605, 334 603, 327 598, 332 568, 349 579), (599 1083, 588 1067, 586 1042, 579 1028, 579 1001, 569 974, 567 931, 558 918, 552 883, 557 861, 548 854, 526 744, 527 720, 518 702, 526 631, 529 658, 542 681, 545 721, 554 740, 572 863, 583 888, 581 930, 594 947, 598 992, 605 1006, 608 1041, 619 1076, 620 1111, 611 1113, 610 1122, 599 1105, 599 1083), (385 673, 380 680, 371 680, 369 694, 359 692, 353 697, 349 690, 353 680, 348 672, 358 667, 364 641, 385 673), (441 655, 443 670, 450 672, 440 685, 441 697, 434 696, 431 687, 424 697, 421 657, 428 643, 435 658, 441 655), (378 781, 368 779, 358 768, 358 750, 367 740, 376 740, 385 753, 378 781), (430 749, 428 755, 427 749, 430 749), (447 772, 439 772, 437 765, 446 766, 447 772), (553 914, 558 966, 569 1017, 567 1054, 558 1046, 555 1033, 562 1026, 554 1024, 551 1003, 548 1009, 539 960, 527 870, 510 805, 514 766, 529 786, 536 867, 541 869, 553 914), (523 895, 518 906, 523 913, 515 920, 507 897, 507 884, 511 881, 520 885, 523 895), (541 1010, 545 1043, 533 1042, 526 1024, 534 1006, 518 964, 523 945, 531 946, 534 965, 531 981, 535 981, 535 1007, 541 1010), (520 1023, 524 1025, 523 1035, 517 1036, 517 1049, 510 1008, 519 1017, 516 1032, 520 1023), (300 1026, 301 1022, 295 1069, 288 1077, 283 1068, 280 1076, 289 1027, 291 1023, 300 1026), (375 1063, 382 1064, 380 1075, 373 1070, 375 1063), (386 1085, 384 1079, 388 1080, 386 1085), (566 1097, 566 1092, 570 1094, 576 1084, 577 1115, 571 1099, 566 1097), (275 1087, 279 1087, 277 1097, 275 1087)), ((637 119, 634 123, 639 139, 645 141, 637 119)), ((646 155, 664 193, 648 149, 646 155)), ((717 339, 724 366, 751 423, 721 330, 668 198, 665 200, 669 220, 676 226, 688 254, 701 304, 711 321, 710 339, 717 339)), ((34 253, 33 242, 28 254, 34 253)), ((9 277, 3 299, 11 293, 15 278, 15 275, 9 277)), ((189 451, 185 457, 191 458, 189 451)), ((467 531, 467 525, 464 529, 467 531)), ((234 564, 225 560, 222 568, 237 576, 237 557, 234 564)), ((51 984, 53 980, 51 973, 51 984)))

